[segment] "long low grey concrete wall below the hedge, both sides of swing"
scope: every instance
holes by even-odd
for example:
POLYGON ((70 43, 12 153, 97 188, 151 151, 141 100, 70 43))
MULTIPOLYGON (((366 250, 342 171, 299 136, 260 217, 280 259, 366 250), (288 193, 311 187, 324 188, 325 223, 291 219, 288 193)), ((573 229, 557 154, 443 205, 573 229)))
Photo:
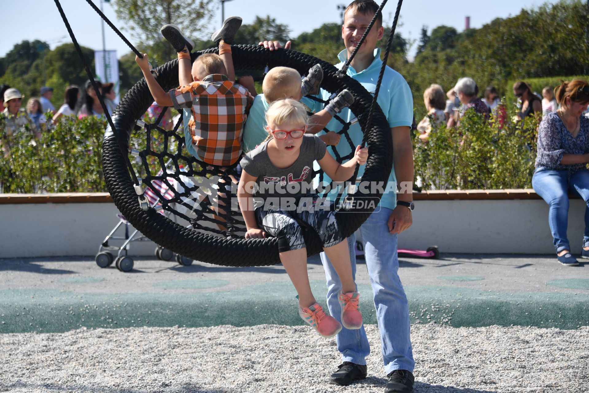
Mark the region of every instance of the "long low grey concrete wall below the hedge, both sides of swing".
MULTIPOLYGON (((416 198, 413 226, 399 236, 399 247, 437 245, 442 253, 554 252, 548 206, 541 199, 436 200, 439 195, 416 198)), ((119 221, 111 202, 10 202, 0 201, 0 257, 94 256, 119 221)), ((583 215, 583 201, 571 200, 568 236, 575 253, 581 250, 583 215)), ((152 242, 131 243, 129 253, 153 255, 154 249, 152 242)))

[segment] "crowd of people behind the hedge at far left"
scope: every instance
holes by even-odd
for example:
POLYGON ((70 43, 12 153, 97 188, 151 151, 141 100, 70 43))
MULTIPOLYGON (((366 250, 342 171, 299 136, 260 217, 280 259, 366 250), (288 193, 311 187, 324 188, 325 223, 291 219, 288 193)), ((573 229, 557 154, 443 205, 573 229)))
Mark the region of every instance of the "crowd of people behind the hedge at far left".
MULTIPOLYGON (((38 97, 31 97, 27 105, 22 105, 25 98, 17 88, 9 85, 0 86, 0 111, 6 118, 6 135, 10 136, 15 131, 28 128, 35 136, 40 136, 42 131, 55 126, 62 118, 71 117, 80 119, 89 115, 104 118, 104 110, 98 100, 92 82, 88 80, 84 89, 76 85, 70 85, 65 89, 64 103, 56 110, 52 87, 44 86, 39 89, 38 97), (48 122, 45 114, 51 113, 51 121, 48 122)), ((104 103, 109 114, 116 107, 116 93, 114 83, 100 84, 99 91, 104 98, 104 103)))

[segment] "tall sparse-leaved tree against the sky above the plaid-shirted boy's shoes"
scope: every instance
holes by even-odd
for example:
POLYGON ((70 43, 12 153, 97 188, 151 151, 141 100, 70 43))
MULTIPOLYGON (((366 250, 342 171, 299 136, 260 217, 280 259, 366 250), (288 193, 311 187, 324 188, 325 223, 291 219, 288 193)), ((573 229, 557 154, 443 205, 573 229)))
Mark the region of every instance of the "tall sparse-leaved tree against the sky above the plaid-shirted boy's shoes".
MULTIPOLYGON (((128 22, 127 29, 148 47, 161 41, 160 28, 163 25, 177 25, 186 37, 197 38, 210 31, 210 22, 218 2, 214 0, 116 0, 118 18, 128 22)), ((174 49, 162 45, 161 54, 150 54, 155 60, 168 61, 174 49)))

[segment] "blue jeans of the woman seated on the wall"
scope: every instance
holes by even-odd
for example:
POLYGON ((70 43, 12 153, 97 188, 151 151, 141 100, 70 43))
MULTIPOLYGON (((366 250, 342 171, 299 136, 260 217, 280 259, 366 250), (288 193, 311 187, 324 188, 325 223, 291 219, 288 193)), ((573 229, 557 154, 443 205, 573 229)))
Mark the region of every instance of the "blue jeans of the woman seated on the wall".
MULTIPOLYGON (((567 239, 568 191, 589 204, 589 170, 548 170, 538 167, 532 177, 532 187, 550 206, 548 223, 556 252, 570 250, 567 239)), ((589 247, 589 207, 585 207, 583 247, 589 247)))

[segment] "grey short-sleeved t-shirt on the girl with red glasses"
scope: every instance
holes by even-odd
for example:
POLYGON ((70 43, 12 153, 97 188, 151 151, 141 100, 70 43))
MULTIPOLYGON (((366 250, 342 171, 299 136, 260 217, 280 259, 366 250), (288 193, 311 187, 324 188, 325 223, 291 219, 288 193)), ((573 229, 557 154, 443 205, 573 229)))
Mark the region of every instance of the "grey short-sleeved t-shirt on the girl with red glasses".
MULTIPOLYGON (((260 198, 288 197, 299 200, 300 197, 315 193, 313 187, 313 161, 325 156, 325 143, 315 135, 303 135, 299 158, 290 167, 280 169, 272 164, 268 157, 266 141, 241 158, 241 167, 256 177, 253 196, 255 207, 260 205, 260 198)), ((247 186, 247 184, 246 184, 247 186)))

